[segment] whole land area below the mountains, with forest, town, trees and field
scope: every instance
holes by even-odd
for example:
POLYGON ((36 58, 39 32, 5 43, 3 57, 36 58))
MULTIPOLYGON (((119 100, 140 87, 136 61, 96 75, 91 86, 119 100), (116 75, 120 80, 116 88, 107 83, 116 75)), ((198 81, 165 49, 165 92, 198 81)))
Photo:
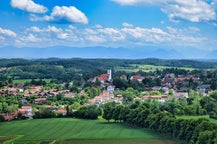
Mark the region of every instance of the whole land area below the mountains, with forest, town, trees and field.
MULTIPOLYGON (((50 129, 46 134, 51 136, 55 132, 62 137, 67 129, 68 138, 76 133, 92 138, 88 131, 107 136, 145 128, 141 138, 151 130, 151 136, 163 133, 160 137, 175 141, 214 141, 215 65, 155 59, 0 60, 0 122, 4 129, 0 142, 26 142, 27 131, 37 137, 40 130, 35 125, 41 125, 42 131, 50 129), (28 127, 23 126, 27 123, 28 127), (10 137, 22 133, 24 139, 10 137)), ((40 142, 55 143, 56 139, 39 137, 40 142)), ((29 141, 35 140, 29 137, 29 141)))

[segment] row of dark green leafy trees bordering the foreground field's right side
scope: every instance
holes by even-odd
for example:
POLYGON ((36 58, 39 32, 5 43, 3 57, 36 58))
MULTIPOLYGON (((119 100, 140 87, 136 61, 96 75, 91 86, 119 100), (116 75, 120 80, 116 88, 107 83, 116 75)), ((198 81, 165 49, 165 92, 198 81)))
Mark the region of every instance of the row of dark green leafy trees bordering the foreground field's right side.
POLYGON ((150 109, 148 103, 129 106, 107 103, 103 106, 103 118, 148 128, 172 136, 184 143, 216 144, 217 125, 208 119, 177 119, 174 115, 158 109, 150 109))

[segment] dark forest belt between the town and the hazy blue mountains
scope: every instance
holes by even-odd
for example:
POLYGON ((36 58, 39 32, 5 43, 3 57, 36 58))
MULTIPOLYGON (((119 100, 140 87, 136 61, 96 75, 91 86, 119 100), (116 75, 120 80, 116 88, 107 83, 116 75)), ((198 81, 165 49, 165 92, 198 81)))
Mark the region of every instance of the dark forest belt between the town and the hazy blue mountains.
POLYGON ((13 79, 57 79, 67 81, 82 74, 86 80, 104 72, 106 69, 118 70, 118 67, 137 65, 154 65, 166 67, 185 67, 196 69, 213 69, 217 62, 196 60, 160 60, 160 59, 0 59, 0 67, 8 68, 1 72, 1 79, 5 75, 13 79))

